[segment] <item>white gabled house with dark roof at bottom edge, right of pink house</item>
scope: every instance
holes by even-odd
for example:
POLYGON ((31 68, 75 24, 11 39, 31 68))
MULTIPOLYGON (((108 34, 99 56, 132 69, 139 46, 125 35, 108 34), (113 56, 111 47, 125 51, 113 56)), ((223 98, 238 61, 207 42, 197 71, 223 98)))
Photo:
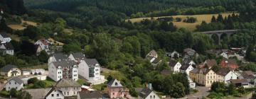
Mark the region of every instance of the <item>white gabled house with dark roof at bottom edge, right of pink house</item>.
POLYGON ((160 99, 150 88, 142 88, 138 93, 139 99, 160 99))

